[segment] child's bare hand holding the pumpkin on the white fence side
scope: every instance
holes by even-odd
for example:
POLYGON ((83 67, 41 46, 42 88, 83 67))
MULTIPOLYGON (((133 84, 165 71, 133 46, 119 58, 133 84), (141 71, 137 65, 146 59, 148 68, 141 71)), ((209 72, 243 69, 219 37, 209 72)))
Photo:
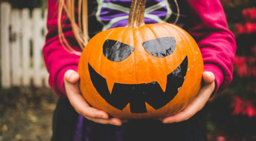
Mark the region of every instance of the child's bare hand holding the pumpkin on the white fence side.
POLYGON ((120 119, 109 118, 109 115, 106 112, 90 107, 90 105, 81 95, 78 86, 78 80, 79 74, 76 71, 67 70, 65 72, 64 84, 67 92, 67 97, 75 110, 79 114, 85 116, 85 118, 92 120, 93 122, 121 126, 122 121, 120 119))

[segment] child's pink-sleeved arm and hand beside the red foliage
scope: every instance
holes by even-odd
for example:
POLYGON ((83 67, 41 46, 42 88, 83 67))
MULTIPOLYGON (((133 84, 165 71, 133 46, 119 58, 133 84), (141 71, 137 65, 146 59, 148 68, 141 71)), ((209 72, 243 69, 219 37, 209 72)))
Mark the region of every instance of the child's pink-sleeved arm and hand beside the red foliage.
POLYGON ((163 123, 181 122, 200 111, 212 93, 225 88, 233 73, 235 37, 228 30, 227 19, 219 0, 187 0, 192 17, 191 35, 202 52, 205 72, 197 96, 183 111, 163 119, 163 123), (215 78, 215 84, 214 84, 215 78))

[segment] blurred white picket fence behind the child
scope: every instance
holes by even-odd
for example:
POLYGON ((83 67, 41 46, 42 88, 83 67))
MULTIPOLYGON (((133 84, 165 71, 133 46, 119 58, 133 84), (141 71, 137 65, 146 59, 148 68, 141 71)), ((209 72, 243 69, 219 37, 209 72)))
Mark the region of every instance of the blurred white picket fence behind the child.
POLYGON ((46 11, 35 8, 12 9, 1 3, 1 85, 48 86, 48 76, 42 57, 45 43, 46 11), (44 17, 42 17, 44 15, 44 17), (44 33, 44 34, 43 34, 44 33))

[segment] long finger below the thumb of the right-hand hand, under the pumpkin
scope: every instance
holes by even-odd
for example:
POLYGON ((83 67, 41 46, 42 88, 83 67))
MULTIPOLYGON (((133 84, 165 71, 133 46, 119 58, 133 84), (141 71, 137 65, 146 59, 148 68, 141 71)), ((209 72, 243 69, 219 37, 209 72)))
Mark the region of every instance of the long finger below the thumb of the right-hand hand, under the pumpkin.
POLYGON ((195 97, 192 103, 188 105, 188 107, 186 107, 183 111, 173 116, 168 116, 164 118, 162 122, 173 123, 173 122, 181 122, 184 120, 188 120, 193 115, 195 115, 196 112, 200 111, 205 106, 207 100, 209 99, 211 93, 213 92, 213 89, 214 89, 214 85, 203 86, 199 90, 198 95, 195 97))

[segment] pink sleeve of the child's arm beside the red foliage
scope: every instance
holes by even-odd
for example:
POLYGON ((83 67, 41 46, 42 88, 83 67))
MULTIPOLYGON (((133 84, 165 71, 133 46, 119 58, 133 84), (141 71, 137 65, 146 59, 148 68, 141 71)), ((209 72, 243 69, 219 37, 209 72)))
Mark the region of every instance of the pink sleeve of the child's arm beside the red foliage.
POLYGON ((187 1, 193 21, 191 35, 202 52, 205 71, 211 71, 215 75, 216 93, 232 80, 235 37, 228 30, 227 19, 219 0, 187 1))

